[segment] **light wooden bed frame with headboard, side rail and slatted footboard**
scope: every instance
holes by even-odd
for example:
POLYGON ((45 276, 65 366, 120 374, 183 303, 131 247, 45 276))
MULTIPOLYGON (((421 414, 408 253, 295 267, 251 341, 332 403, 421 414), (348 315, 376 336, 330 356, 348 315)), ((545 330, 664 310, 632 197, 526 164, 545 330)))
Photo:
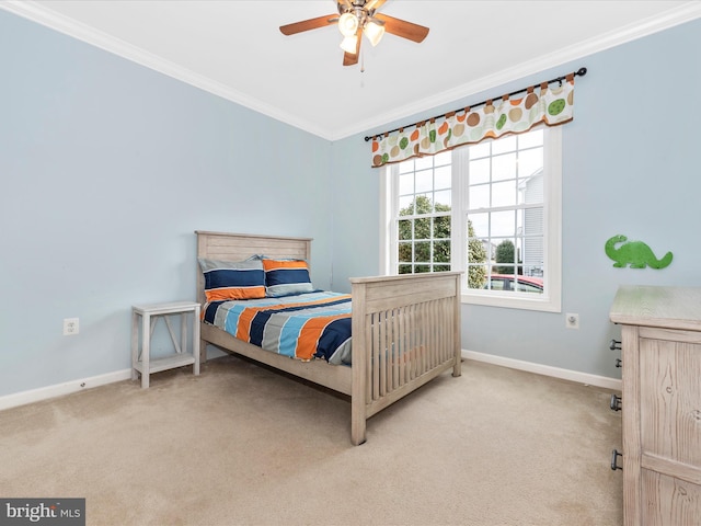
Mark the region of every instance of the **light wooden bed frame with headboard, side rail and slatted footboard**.
MULTIPOLYGON (((311 239, 196 231, 197 258, 242 261, 254 254, 311 262, 311 239)), ((301 362, 237 340, 209 323, 207 344, 240 354, 350 397, 350 441, 365 442, 367 420, 427 381, 452 369, 460 376, 459 272, 350 278, 353 366, 301 362)), ((197 265, 197 298, 204 276, 197 265)))

